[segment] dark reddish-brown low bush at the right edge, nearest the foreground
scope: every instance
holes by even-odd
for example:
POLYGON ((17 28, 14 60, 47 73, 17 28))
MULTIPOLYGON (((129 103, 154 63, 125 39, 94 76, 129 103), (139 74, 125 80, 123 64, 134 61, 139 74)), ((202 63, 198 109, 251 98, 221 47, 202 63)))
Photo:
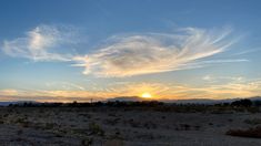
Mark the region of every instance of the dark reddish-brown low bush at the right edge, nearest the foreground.
POLYGON ((261 138, 261 126, 249 129, 229 129, 225 134, 231 136, 261 138))

